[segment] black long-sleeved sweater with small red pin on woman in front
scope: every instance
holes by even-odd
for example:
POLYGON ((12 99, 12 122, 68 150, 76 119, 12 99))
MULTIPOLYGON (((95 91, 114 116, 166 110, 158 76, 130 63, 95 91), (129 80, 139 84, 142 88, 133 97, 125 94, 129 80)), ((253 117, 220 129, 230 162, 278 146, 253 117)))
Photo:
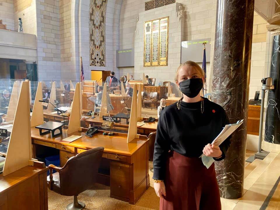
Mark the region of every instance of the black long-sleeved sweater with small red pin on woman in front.
MULTIPOLYGON (((204 146, 212 143, 223 127, 229 124, 225 110, 220 105, 203 99, 203 113, 201 101, 195 103, 181 101, 180 109, 175 103, 160 113, 153 158, 154 179, 164 179, 169 150, 186 157, 199 157, 204 146)), ((214 160, 223 160, 229 146, 230 137, 220 145, 222 157, 214 160)))

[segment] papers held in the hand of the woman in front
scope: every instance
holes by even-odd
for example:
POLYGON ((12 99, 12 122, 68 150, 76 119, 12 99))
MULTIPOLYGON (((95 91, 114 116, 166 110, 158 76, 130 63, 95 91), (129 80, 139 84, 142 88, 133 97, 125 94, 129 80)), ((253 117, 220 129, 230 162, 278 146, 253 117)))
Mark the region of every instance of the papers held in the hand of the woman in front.
MULTIPOLYGON (((220 146, 227 137, 229 137, 240 125, 242 125, 243 120, 238 120, 235 124, 225 125, 224 129, 220 132, 220 134, 212 141, 211 145, 220 146)), ((203 164, 206 166, 207 169, 212 165, 214 162, 213 157, 207 157, 204 154, 201 156, 201 160, 203 164)))

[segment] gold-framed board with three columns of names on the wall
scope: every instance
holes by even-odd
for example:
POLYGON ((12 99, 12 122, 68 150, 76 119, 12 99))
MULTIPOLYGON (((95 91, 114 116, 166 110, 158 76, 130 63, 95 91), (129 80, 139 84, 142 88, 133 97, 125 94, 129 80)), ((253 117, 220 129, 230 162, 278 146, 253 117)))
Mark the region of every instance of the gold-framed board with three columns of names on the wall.
POLYGON ((169 16, 144 22, 144 67, 168 65, 169 16))

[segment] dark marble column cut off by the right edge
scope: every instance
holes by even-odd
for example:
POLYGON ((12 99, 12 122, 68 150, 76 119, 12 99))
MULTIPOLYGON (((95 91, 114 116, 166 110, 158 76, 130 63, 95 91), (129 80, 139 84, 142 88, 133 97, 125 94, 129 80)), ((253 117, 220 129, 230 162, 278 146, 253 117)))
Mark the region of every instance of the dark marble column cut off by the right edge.
POLYGON ((265 120, 265 141, 280 144, 280 29, 272 32, 270 77, 274 90, 268 90, 265 120))

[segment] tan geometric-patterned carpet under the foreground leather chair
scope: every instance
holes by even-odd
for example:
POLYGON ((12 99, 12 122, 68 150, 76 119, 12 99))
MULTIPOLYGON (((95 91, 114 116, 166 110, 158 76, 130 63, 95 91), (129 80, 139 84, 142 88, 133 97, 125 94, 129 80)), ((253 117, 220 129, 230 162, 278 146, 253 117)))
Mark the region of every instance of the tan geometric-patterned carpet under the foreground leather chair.
MULTIPOLYGON (((149 162, 149 168, 152 168, 152 162, 149 162)), ((120 210, 156 210, 159 209, 159 198, 156 196, 153 182, 152 173, 150 174, 151 187, 142 195, 135 205, 127 202, 120 201, 110 197, 110 188, 95 184, 94 189, 86 190, 78 196, 78 201, 85 203, 85 209, 120 209, 120 210)), ((53 191, 48 190, 48 206, 49 210, 65 210, 66 206, 73 202, 73 197, 62 196, 53 191)))

